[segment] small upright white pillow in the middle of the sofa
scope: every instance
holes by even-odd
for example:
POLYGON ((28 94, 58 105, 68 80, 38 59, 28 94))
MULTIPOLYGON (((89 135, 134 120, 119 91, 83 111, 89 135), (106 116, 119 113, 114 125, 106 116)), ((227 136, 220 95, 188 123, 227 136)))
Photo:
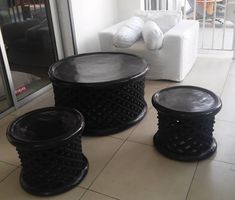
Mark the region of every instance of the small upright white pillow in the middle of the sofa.
POLYGON ((153 21, 147 21, 142 31, 145 46, 149 50, 160 49, 163 42, 163 32, 153 21))

